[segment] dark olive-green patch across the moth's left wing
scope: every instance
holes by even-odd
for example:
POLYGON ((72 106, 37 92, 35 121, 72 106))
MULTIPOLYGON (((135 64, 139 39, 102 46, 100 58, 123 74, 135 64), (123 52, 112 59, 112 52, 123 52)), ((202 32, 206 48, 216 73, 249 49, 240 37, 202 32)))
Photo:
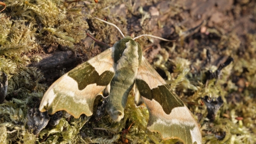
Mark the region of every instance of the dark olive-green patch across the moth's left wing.
POLYGON ((110 83, 114 73, 106 70, 101 75, 90 65, 89 62, 83 63, 81 67, 74 69, 68 73, 68 76, 75 79, 78 89, 83 90, 89 84, 97 84, 106 86, 110 83))

